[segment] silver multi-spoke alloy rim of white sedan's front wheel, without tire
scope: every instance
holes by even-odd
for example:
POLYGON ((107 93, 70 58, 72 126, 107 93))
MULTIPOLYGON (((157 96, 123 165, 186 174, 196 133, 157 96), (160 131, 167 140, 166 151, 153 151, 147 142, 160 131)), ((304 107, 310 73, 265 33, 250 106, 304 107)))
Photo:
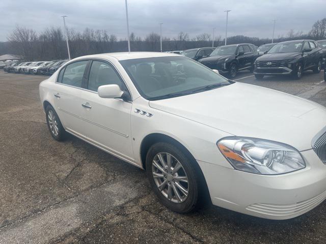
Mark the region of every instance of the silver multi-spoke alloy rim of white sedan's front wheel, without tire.
POLYGON ((184 202, 188 196, 188 177, 181 163, 169 153, 158 153, 152 161, 155 185, 162 195, 174 203, 184 202))

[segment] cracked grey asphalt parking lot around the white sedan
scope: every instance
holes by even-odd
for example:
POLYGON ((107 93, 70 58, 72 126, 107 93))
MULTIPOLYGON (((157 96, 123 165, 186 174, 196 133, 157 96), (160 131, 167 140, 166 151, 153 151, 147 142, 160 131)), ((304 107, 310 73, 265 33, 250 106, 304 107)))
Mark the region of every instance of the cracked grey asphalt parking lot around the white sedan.
MULTIPOLYGON (((208 206, 161 206, 144 171, 70 136, 53 140, 39 102, 44 76, 0 70, 0 243, 325 243, 326 202, 287 221, 208 206)), ((301 80, 241 72, 326 106, 323 74, 301 80)))

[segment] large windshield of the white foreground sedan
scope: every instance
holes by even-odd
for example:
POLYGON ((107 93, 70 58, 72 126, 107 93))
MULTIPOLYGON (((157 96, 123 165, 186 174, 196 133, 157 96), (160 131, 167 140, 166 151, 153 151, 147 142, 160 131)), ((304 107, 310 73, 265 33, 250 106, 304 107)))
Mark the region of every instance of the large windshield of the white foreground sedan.
POLYGON ((178 97, 230 84, 223 76, 182 56, 121 60, 120 64, 148 100, 178 97))

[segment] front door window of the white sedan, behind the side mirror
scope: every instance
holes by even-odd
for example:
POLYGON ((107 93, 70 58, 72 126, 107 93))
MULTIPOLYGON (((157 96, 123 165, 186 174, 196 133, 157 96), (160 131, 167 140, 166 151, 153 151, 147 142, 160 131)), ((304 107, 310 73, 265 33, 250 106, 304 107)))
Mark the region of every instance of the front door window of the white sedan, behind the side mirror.
POLYGON ((93 61, 88 79, 88 89, 97 92, 101 85, 117 84, 123 90, 125 85, 116 71, 104 62, 93 61))

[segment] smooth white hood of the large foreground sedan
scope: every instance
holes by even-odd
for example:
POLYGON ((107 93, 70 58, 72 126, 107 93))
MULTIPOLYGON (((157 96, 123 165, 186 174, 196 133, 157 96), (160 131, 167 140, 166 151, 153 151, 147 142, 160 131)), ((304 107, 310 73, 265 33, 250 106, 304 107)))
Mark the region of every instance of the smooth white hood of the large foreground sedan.
POLYGON ((283 142, 298 150, 312 148, 313 137, 326 126, 323 106, 238 82, 202 93, 149 101, 149 105, 232 135, 283 142))

